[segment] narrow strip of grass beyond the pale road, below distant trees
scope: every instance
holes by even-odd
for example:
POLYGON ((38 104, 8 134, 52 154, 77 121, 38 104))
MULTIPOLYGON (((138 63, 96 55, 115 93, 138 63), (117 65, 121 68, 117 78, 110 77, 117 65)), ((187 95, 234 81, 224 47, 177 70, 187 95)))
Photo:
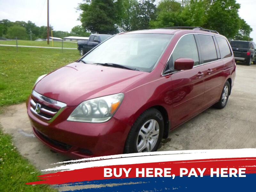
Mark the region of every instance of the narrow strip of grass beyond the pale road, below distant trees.
MULTIPOLYGON (((16 45, 16 41, 0 41, 0 44, 5 45, 16 45)), ((28 45, 28 46, 40 46, 40 47, 52 47, 52 41, 47 44, 47 41, 25 41, 18 40, 18 45, 28 45)), ((53 41, 53 47, 62 47, 62 42, 53 41)), ((63 41, 63 47, 65 48, 77 48, 77 43, 63 41)))

